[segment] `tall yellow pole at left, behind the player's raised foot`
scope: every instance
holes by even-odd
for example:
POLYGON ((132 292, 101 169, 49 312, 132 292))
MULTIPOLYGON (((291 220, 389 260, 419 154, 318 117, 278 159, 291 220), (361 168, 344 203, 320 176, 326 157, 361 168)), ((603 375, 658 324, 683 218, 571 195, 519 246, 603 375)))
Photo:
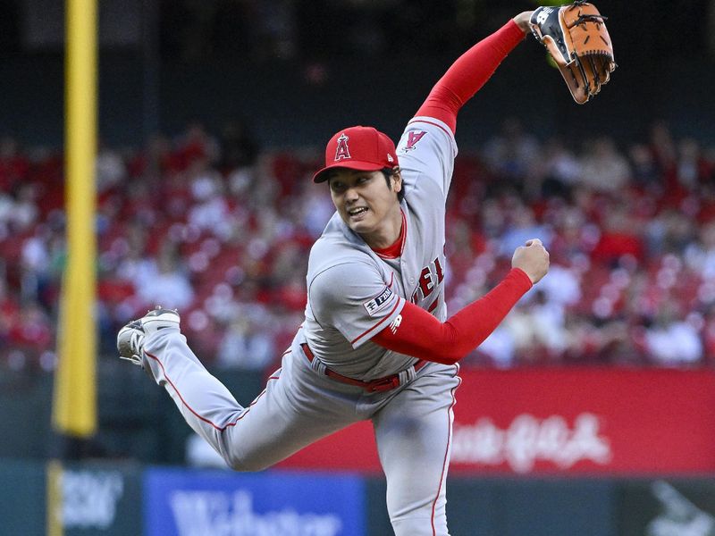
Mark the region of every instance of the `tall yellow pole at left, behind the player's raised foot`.
POLYGON ((67 0, 65 53, 65 207, 67 265, 58 327, 53 424, 87 438, 97 430, 94 315, 97 244, 97 0, 67 0))

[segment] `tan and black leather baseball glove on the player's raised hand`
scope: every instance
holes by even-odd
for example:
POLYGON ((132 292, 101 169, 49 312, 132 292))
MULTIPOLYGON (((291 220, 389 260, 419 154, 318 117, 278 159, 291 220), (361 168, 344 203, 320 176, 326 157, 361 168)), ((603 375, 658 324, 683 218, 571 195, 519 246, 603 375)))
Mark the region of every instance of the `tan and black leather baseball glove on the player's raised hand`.
POLYGON ((605 20, 595 5, 582 0, 544 5, 531 16, 534 37, 553 57, 579 105, 601 91, 617 66, 605 20))

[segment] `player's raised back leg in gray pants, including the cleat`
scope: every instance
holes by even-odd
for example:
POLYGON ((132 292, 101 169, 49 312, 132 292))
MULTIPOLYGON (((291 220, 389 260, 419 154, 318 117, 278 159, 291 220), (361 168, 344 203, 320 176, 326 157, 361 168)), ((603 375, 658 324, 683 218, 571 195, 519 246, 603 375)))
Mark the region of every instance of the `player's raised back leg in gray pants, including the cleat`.
POLYGON ((355 422, 349 406, 319 407, 315 394, 292 387, 299 383, 294 375, 313 372, 296 370, 300 367, 294 367, 290 352, 256 400, 240 406, 194 355, 179 326, 175 312, 152 311, 120 331, 117 348, 122 358, 141 364, 164 386, 189 426, 231 468, 265 469, 355 422))

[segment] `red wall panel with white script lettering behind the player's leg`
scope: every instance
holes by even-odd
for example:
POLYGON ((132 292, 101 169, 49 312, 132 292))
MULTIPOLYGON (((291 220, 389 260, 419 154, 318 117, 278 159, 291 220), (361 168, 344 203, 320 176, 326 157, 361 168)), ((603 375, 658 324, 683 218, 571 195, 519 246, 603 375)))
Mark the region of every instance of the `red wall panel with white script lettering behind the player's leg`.
MULTIPOLYGON (((518 368, 459 375, 453 474, 715 473, 710 370, 518 368)), ((333 434, 281 466, 381 471, 371 423, 333 434)))

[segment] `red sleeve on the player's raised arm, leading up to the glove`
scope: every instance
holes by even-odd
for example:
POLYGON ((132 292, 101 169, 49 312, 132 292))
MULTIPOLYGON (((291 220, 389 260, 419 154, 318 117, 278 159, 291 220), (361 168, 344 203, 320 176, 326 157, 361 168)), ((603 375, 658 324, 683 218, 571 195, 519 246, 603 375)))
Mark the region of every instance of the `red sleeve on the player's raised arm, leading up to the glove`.
POLYGON ((492 77, 501 61, 524 38, 517 23, 509 20, 501 29, 482 39, 452 63, 427 96, 416 116, 444 121, 452 132, 457 130, 457 113, 492 77))

